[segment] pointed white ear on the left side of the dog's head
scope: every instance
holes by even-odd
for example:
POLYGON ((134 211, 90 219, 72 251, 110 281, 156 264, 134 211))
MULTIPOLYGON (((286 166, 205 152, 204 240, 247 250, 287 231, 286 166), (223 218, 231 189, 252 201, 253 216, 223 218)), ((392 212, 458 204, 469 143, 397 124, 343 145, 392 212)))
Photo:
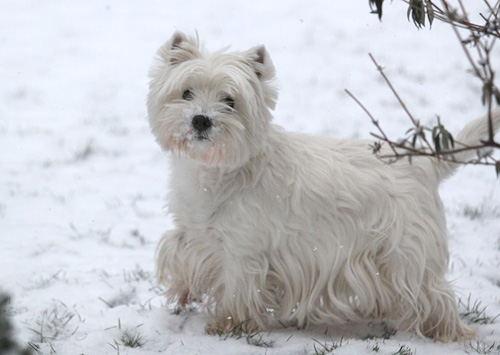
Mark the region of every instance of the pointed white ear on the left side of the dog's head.
POLYGON ((199 39, 188 37, 180 31, 176 31, 172 37, 159 49, 158 55, 169 65, 199 57, 199 39))

